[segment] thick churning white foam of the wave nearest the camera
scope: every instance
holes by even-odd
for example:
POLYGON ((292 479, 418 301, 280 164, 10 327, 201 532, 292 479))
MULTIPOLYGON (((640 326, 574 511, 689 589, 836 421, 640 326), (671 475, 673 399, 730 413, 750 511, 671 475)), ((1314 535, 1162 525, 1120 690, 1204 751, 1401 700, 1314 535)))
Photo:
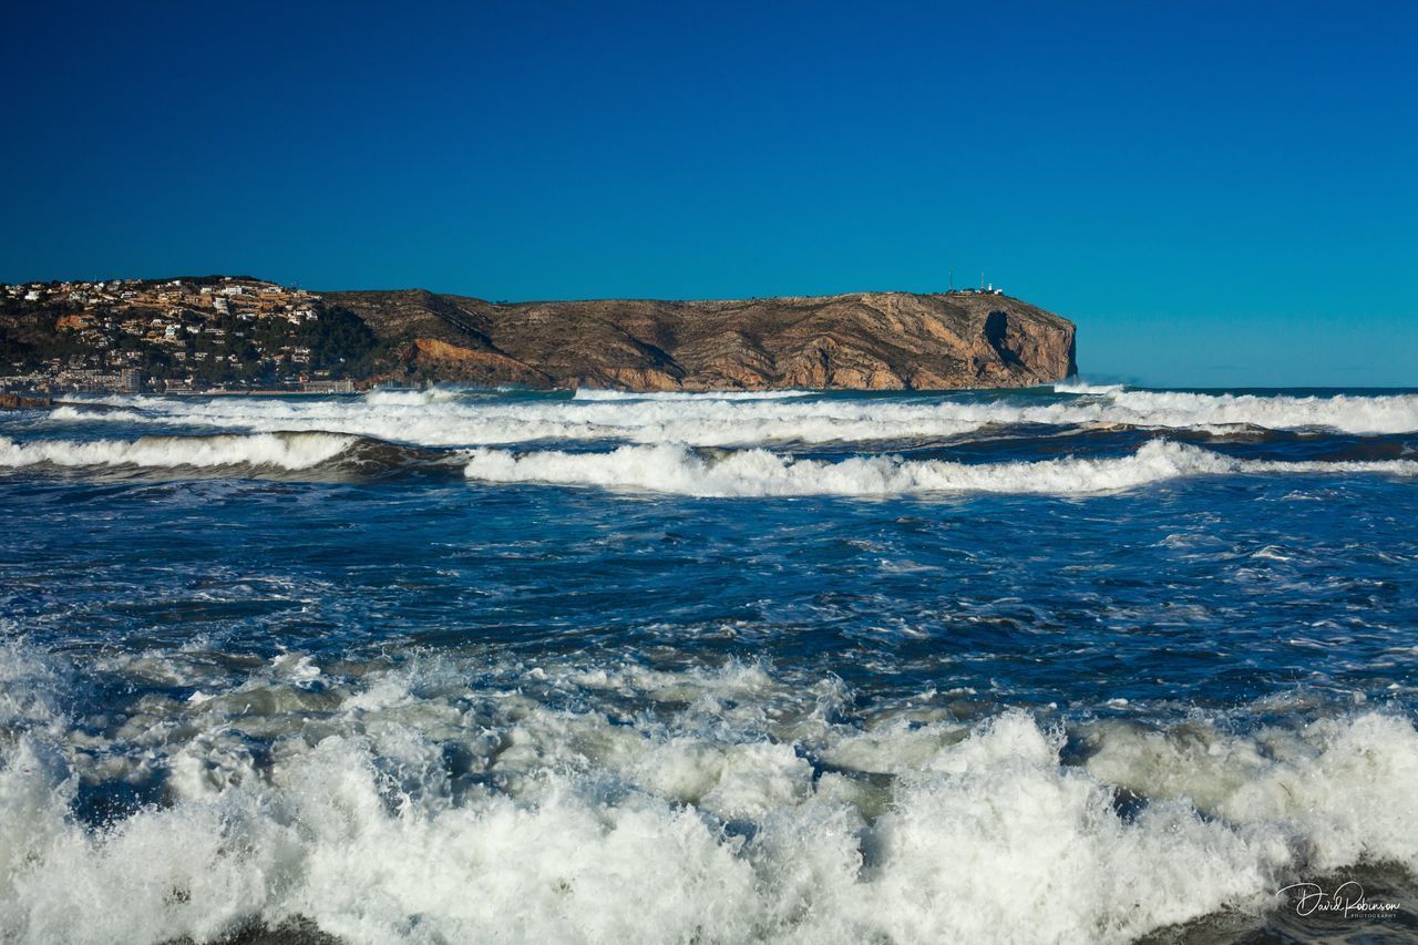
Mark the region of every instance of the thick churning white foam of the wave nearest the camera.
POLYGON ((319 692, 288 670, 199 674, 214 695, 135 702, 106 736, 7 729, 0 938, 210 941, 299 915, 354 944, 1126 942, 1258 911, 1299 870, 1418 870, 1418 732, 1392 715, 1098 726, 1075 768, 1024 712, 865 728, 841 682, 763 667, 424 660, 319 692), (170 803, 75 820, 82 782, 145 776, 170 803), (1120 817, 1119 785, 1153 803, 1120 817))

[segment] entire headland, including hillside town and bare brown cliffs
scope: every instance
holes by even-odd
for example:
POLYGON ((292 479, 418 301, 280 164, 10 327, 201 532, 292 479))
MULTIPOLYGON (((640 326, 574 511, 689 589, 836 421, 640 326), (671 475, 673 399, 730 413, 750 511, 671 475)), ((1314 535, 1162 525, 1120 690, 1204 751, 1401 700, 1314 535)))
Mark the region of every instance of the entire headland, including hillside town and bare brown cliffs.
POLYGON ((0 287, 0 390, 377 383, 943 390, 1076 372, 1073 324, 997 291, 491 302, 210 275, 0 287))

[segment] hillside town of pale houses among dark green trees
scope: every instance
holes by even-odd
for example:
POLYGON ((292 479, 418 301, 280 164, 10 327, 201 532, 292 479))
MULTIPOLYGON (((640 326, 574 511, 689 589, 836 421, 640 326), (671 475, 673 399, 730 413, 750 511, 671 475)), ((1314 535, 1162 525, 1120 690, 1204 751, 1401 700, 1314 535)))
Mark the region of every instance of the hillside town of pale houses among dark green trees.
POLYGON ((376 341, 306 289, 244 277, 0 285, 0 390, 353 390, 376 341))

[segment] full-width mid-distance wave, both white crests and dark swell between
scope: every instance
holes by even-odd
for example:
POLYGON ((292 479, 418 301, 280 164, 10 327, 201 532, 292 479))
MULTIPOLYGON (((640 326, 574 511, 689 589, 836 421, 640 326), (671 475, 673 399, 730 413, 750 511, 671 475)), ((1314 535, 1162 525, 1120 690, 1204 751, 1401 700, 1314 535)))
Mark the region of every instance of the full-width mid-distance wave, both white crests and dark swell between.
POLYGON ((698 497, 889 497, 963 492, 1090 495, 1193 475, 1381 474, 1418 475, 1418 460, 1244 460, 1201 447, 1151 440, 1130 455, 1068 455, 1008 463, 856 455, 798 458, 764 448, 696 450, 683 444, 623 446, 607 451, 437 450, 322 431, 145 436, 135 440, 0 437, 0 468, 234 470, 325 475, 400 475, 442 470, 481 482, 543 482, 644 490, 698 497))

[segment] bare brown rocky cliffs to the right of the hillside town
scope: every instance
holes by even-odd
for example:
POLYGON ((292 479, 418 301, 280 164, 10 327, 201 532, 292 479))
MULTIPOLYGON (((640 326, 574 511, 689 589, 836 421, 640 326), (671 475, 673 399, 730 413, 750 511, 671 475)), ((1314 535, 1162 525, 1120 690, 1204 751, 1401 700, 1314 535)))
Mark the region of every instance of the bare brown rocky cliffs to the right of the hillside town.
POLYGON ((1003 295, 498 305, 329 292, 386 341, 404 377, 621 390, 1012 387, 1076 372, 1073 324, 1003 295))

